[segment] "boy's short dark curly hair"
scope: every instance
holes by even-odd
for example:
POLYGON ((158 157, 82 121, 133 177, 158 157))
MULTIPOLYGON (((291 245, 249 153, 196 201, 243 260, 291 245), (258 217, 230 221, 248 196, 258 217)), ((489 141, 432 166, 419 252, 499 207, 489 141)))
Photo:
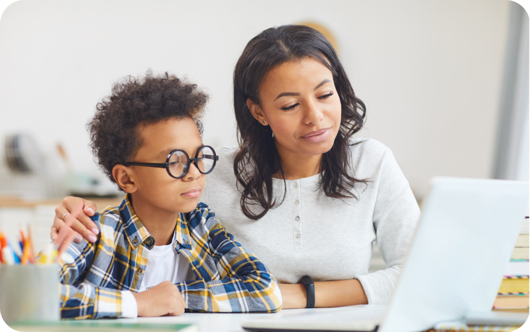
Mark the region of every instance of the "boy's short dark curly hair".
POLYGON ((142 146, 136 130, 139 124, 191 117, 202 135, 200 118, 207 101, 208 95, 196 84, 167 72, 155 76, 147 71, 144 77, 121 78, 112 86, 111 95, 96 105, 94 117, 86 124, 99 168, 116 183, 112 168, 131 161, 142 146))

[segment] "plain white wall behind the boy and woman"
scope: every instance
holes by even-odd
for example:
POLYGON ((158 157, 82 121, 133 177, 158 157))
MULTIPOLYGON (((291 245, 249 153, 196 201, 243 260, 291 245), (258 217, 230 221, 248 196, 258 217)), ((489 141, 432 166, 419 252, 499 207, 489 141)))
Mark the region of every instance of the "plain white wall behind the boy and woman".
POLYGON ((0 140, 29 132, 49 155, 60 142, 94 171, 84 125, 96 102, 152 68, 206 88, 204 142, 235 144, 231 75, 246 42, 308 20, 337 37, 368 109, 360 136, 392 149, 418 196, 435 175, 490 176, 507 0, 21 0, 0 20, 0 140))

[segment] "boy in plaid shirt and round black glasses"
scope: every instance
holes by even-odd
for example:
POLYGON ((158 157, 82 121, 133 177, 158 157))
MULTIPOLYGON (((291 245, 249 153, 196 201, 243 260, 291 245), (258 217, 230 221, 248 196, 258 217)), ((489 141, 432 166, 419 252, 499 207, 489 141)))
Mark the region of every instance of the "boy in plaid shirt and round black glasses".
POLYGON ((127 194, 92 217, 94 243, 61 255, 62 318, 280 310, 273 276, 198 202, 216 156, 201 141, 208 97, 196 88, 148 72, 98 103, 90 146, 127 194))

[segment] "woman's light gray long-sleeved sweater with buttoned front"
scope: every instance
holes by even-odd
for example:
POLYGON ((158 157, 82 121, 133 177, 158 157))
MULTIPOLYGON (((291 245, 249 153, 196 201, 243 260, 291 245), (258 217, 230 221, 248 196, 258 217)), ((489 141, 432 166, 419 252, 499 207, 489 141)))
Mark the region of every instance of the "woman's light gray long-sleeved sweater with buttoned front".
MULTIPOLYGON (((233 171, 236 151, 217 149, 219 161, 206 177, 201 197, 235 240, 252 250, 280 283, 298 283, 304 275, 313 281, 357 278, 369 304, 388 304, 420 216, 390 149, 375 139, 351 147, 355 177, 369 180, 356 185, 359 199, 325 196, 317 174, 287 181, 284 202, 258 221, 241 212, 233 171), (369 274, 375 241, 386 269, 369 274)), ((281 199, 284 181, 272 181, 273 195, 281 199)))

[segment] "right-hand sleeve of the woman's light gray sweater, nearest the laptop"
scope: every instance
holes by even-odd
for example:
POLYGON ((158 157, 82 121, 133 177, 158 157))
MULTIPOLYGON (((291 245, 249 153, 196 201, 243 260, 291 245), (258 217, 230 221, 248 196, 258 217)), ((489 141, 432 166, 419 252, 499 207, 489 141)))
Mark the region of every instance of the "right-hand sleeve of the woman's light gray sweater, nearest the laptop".
POLYGON ((388 304, 401 272, 420 209, 394 155, 386 148, 379 169, 373 212, 377 246, 386 269, 356 276, 369 304, 388 304))

